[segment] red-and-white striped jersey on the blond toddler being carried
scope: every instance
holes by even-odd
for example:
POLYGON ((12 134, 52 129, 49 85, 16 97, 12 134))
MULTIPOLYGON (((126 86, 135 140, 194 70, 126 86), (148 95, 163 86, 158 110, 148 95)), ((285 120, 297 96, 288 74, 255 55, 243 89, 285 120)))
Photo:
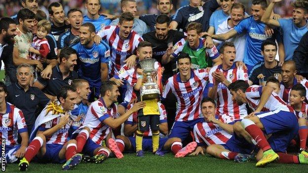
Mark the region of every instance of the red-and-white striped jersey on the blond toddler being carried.
POLYGON ((46 58, 50 52, 50 47, 47 39, 40 39, 37 35, 34 35, 31 46, 39 51, 40 55, 30 52, 31 60, 40 60, 46 58))

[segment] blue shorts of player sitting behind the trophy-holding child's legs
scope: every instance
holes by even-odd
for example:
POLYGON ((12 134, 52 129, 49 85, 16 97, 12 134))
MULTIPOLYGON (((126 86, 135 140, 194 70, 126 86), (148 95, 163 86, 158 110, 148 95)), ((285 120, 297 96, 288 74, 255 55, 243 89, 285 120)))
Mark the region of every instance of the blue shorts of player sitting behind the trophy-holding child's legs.
MULTIPOLYGON (((136 138, 135 137, 128 137, 131 145, 134 148, 134 151, 136 151, 136 138)), ((159 149, 162 150, 163 146, 165 145, 166 141, 169 138, 159 138, 159 149)), ((152 137, 147 137, 142 139, 142 150, 144 151, 153 151, 153 145, 152 145, 152 137)))

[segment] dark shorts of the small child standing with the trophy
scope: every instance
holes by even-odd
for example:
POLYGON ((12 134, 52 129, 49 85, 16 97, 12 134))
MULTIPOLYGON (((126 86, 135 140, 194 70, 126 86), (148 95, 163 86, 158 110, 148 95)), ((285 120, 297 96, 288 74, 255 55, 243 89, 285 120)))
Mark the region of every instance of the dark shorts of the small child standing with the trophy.
POLYGON ((149 131, 150 125, 151 130, 159 130, 159 115, 143 115, 138 116, 138 130, 140 131, 149 131))

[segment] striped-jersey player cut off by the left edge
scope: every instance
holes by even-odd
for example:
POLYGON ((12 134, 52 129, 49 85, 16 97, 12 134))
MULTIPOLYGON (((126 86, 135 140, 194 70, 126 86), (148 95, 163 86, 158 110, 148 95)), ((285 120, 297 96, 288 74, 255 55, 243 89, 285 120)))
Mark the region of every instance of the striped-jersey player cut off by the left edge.
POLYGON ((28 146, 29 136, 27 125, 22 111, 13 104, 5 101, 7 89, 3 82, 0 82, 0 112, 2 140, 5 139, 5 163, 13 163, 17 158, 24 157, 28 146), (21 137, 21 144, 17 142, 18 134, 21 137))

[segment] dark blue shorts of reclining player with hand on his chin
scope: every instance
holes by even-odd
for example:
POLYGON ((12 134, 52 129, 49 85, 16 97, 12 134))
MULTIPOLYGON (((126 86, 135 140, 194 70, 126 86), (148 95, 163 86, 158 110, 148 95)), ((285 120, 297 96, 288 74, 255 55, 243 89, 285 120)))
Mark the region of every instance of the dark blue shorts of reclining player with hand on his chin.
POLYGON ((227 143, 222 144, 222 146, 229 151, 242 154, 251 154, 256 147, 253 143, 247 142, 245 138, 237 137, 235 133, 227 141, 227 143))

